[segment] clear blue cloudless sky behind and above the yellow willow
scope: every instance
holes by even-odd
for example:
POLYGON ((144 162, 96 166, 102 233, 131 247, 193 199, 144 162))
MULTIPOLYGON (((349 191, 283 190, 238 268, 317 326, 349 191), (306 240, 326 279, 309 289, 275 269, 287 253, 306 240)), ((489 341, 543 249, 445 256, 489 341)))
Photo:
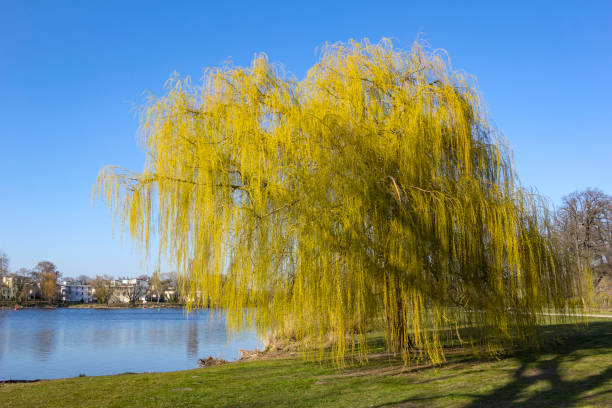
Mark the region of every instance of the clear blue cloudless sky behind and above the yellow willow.
POLYGON ((142 168, 143 92, 256 52, 302 77, 326 41, 408 48, 421 33, 477 76, 524 184, 556 204, 589 186, 612 193, 612 2, 265 3, 0 1, 0 250, 12 269, 150 272, 91 203, 104 165, 142 168))

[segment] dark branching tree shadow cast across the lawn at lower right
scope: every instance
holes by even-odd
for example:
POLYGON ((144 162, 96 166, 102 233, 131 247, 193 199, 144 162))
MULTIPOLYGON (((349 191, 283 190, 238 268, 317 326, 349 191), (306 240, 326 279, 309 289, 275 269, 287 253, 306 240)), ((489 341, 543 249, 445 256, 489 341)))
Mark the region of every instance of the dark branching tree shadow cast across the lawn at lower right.
MULTIPOLYGON (((445 397, 471 397, 472 402, 464 408, 476 407, 571 407, 587 403, 586 393, 610 383, 610 387, 591 393, 589 397, 607 395, 612 406, 612 321, 593 322, 585 330, 576 331, 572 325, 551 326, 549 335, 563 336, 562 342, 542 346, 537 352, 515 353, 507 358, 519 361, 519 368, 513 373, 512 380, 486 395, 462 393, 460 391, 446 396, 430 398, 407 398, 379 405, 378 407, 412 407, 421 406, 427 399, 445 397), (594 374, 580 379, 564 379, 572 375, 574 363, 584 357, 604 353, 608 360, 607 367, 594 374), (565 365, 562 369, 562 364, 565 365), (544 385, 544 386, 542 386, 544 385), (537 389, 530 389, 538 387, 537 389), (417 405, 419 404, 419 405, 417 405)), ((548 336, 546 336, 548 338, 548 336)), ((602 360, 599 361, 600 364, 602 360)), ((605 363, 604 363, 605 364, 605 363)), ((601 366, 601 365, 600 365, 601 366)), ((584 372, 584 370, 583 370, 584 372)))

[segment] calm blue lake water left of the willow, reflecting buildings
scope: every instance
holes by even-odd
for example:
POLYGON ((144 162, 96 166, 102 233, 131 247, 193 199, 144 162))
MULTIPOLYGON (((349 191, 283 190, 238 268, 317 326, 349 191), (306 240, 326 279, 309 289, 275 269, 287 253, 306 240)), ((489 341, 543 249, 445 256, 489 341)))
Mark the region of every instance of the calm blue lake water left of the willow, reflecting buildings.
POLYGON ((218 314, 181 309, 0 310, 0 380, 195 368, 261 347, 253 330, 229 336, 218 314))

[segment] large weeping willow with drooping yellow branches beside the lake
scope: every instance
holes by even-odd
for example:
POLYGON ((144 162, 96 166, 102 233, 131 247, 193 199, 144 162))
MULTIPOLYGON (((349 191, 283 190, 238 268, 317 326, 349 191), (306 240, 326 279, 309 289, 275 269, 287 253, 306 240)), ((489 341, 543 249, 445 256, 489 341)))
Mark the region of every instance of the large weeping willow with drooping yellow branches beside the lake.
POLYGON ((419 44, 328 45, 303 80, 259 55, 142 112, 144 170, 107 167, 96 191, 234 329, 332 339, 341 362, 383 328, 436 363, 447 337, 534 341, 584 297, 473 80, 419 44))

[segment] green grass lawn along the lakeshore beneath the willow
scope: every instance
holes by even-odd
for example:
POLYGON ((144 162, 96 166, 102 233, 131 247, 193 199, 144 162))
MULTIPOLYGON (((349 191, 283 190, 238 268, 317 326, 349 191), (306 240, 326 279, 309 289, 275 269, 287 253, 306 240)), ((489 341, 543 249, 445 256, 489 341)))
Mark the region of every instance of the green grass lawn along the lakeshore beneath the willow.
POLYGON ((301 358, 0 386, 0 407, 612 407, 612 319, 551 326, 538 352, 440 367, 301 358), (559 336, 563 336, 559 340, 559 336))

